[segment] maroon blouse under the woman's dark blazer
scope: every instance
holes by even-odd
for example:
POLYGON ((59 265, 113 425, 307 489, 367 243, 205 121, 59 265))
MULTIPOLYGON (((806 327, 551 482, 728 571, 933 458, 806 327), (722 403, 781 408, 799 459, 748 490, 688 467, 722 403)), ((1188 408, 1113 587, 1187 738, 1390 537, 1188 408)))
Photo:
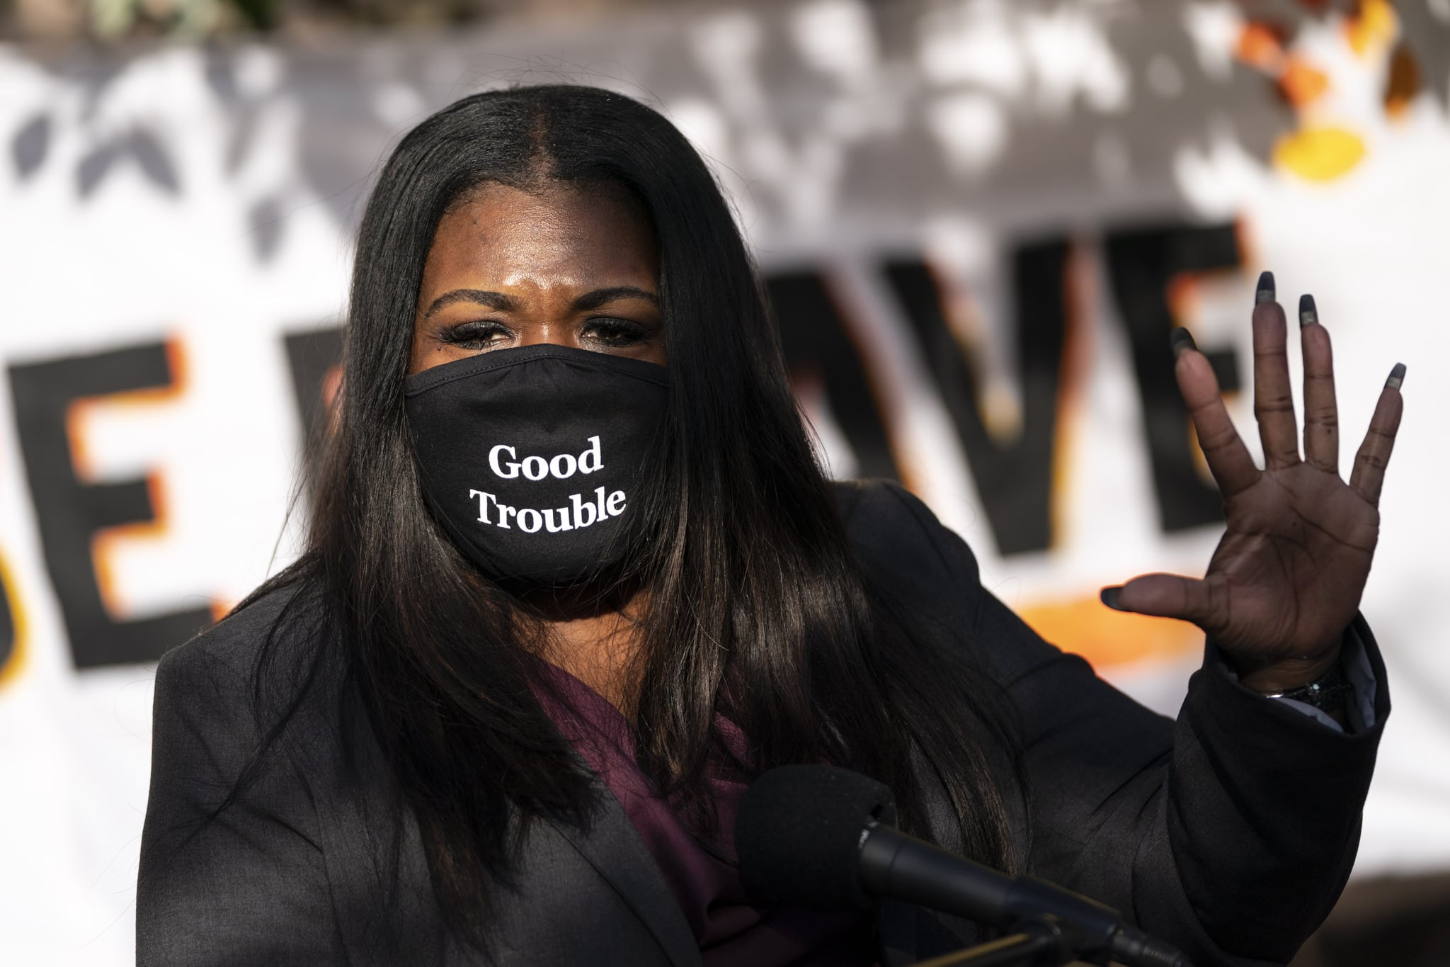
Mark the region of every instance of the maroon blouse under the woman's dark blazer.
MULTIPOLYGON (((706 967, 877 963, 871 918, 864 913, 751 903, 740 881, 734 844, 735 810, 748 786, 744 776, 724 765, 710 770, 718 823, 710 835, 697 838, 639 770, 634 729, 624 715, 563 668, 545 665, 545 674, 554 693, 538 689, 544 710, 639 831, 695 931, 706 967)), ((742 758, 745 736, 735 723, 718 716, 716 726, 731 752, 742 758)))

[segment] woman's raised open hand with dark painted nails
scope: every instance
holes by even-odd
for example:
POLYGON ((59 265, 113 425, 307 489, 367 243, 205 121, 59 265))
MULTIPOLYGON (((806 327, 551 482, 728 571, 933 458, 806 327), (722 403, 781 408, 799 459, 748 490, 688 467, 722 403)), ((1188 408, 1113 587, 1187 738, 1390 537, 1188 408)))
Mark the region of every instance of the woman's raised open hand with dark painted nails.
POLYGON ((1404 364, 1375 406, 1350 481, 1338 473, 1338 412, 1330 333, 1314 299, 1299 303, 1304 352, 1304 458, 1289 393, 1283 309, 1273 274, 1254 304, 1254 416, 1259 470, 1234 429, 1208 360, 1173 331, 1174 374, 1208 467, 1224 496, 1227 531, 1202 580, 1147 574, 1103 589, 1127 612, 1190 621, 1228 654, 1243 684, 1277 692, 1320 677, 1338 660, 1379 539, 1379 493, 1399 429, 1404 364))

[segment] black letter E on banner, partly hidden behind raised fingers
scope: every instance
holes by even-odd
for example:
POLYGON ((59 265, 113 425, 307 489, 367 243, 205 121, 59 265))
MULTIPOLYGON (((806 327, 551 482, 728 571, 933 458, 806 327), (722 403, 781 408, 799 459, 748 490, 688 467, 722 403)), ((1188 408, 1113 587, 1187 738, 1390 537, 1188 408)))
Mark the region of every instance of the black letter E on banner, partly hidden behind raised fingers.
MULTIPOLYGON (((1164 531, 1183 531, 1224 520, 1218 490, 1193 465, 1188 409, 1173 378, 1169 332, 1169 284, 1188 273, 1237 268, 1241 257, 1232 225, 1172 225, 1112 232, 1103 245, 1112 296, 1128 328, 1132 368, 1138 378, 1148 432, 1153 489, 1164 531)), ((1247 320, 1248 306, 1244 306, 1247 320)), ((1238 389, 1232 349, 1205 349, 1225 393, 1238 389)))

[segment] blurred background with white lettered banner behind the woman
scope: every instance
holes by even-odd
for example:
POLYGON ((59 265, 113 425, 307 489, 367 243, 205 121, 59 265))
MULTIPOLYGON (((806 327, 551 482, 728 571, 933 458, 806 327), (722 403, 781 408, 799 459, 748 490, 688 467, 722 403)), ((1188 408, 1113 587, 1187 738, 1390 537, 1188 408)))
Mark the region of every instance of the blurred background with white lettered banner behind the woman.
POLYGON ((1450 964, 1450 0, 0 0, 0 961, 132 961, 155 661, 296 551, 371 180, 560 80, 715 167, 832 473, 1161 712, 1202 636, 1096 592, 1218 539, 1170 328, 1257 451, 1254 280, 1312 291, 1346 467, 1406 362, 1363 603, 1395 712, 1296 963, 1450 964))

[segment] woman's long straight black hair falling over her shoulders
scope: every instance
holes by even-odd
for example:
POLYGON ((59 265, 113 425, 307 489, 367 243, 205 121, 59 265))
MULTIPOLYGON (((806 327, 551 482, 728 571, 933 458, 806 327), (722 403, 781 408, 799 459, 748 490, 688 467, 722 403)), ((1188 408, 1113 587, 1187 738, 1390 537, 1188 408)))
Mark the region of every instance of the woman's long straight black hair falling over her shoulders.
POLYGON ((403 410, 429 245, 448 207, 486 183, 622 187, 658 241, 668 410, 628 571, 648 592, 629 706, 661 794, 710 815, 719 712, 748 736, 748 770, 848 765, 887 783, 902 822, 928 834, 915 748, 945 784, 963 848, 1018 866, 989 754, 1012 741, 1002 709, 863 578, 709 170, 629 97, 522 87, 438 112, 384 167, 358 236, 307 549, 252 597, 296 589, 320 647, 344 657, 452 922, 484 939, 490 892, 509 883, 529 822, 586 825, 597 802, 529 687, 542 622, 431 516, 403 410))

